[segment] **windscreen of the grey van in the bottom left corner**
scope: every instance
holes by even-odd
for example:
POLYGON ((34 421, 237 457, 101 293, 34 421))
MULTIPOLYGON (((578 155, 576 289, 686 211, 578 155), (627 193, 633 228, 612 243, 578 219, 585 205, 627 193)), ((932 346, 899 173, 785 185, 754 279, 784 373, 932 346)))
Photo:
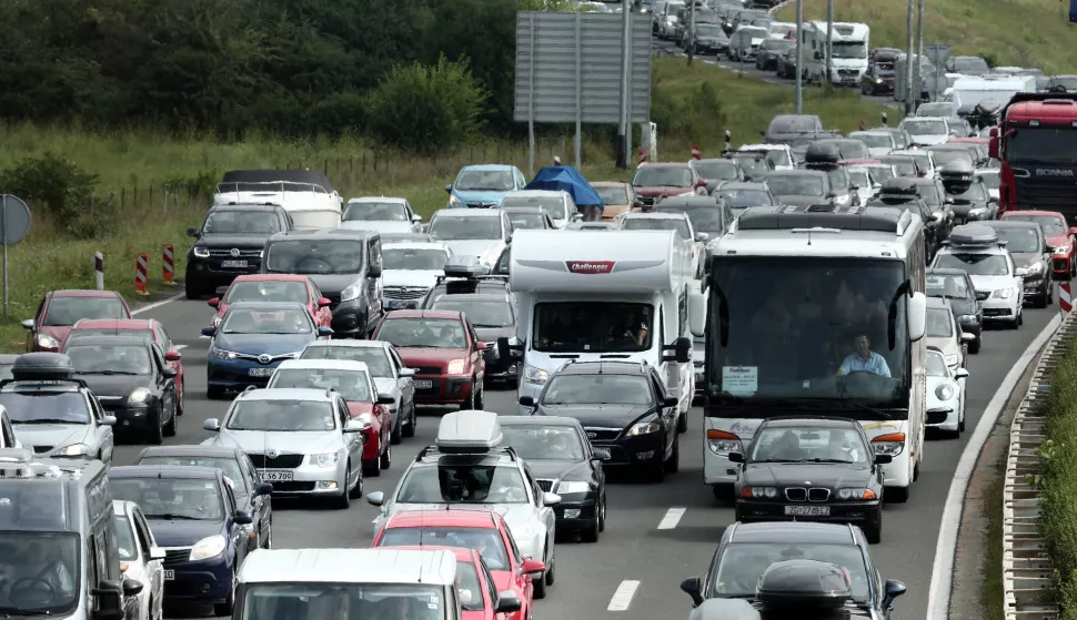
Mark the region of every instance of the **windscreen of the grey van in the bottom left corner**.
POLYGON ((73 533, 0 531, 0 553, 4 558, 8 583, 0 593, 0 607, 6 614, 9 618, 72 616, 82 582, 81 549, 79 537, 73 533), (22 585, 13 587, 19 583, 22 585))

